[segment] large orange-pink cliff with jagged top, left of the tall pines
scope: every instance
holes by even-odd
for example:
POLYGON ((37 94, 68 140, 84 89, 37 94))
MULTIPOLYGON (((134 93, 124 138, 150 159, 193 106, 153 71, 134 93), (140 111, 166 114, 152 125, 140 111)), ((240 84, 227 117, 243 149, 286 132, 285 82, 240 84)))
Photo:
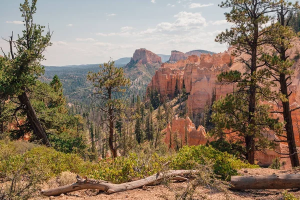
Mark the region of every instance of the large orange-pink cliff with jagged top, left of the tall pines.
POLYGON ((148 87, 157 88, 160 96, 174 97, 177 80, 178 88, 181 90, 183 81, 186 92, 189 92, 188 106, 193 111, 204 107, 206 101, 210 100, 213 88, 216 88, 216 95, 225 95, 232 91, 232 86, 222 86, 215 82, 218 73, 229 70, 227 66, 230 62, 229 52, 214 55, 202 54, 188 56, 185 60, 176 63, 163 63, 155 71, 148 87))

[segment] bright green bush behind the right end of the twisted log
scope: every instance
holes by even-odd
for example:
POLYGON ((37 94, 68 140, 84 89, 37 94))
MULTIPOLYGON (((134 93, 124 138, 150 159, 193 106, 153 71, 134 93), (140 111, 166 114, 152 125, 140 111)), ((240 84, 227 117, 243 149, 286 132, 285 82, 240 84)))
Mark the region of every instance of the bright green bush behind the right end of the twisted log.
POLYGON ((221 179, 229 180, 231 175, 237 175, 236 169, 257 168, 257 165, 244 163, 227 152, 220 152, 211 146, 183 146, 170 163, 173 169, 193 169, 197 164, 213 164, 213 171, 221 179))

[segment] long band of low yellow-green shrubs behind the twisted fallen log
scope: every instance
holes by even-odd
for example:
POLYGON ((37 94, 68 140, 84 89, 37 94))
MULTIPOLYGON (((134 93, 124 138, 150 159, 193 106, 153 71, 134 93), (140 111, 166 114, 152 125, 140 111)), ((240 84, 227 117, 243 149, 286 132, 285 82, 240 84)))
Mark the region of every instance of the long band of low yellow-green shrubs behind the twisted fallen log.
MULTIPOLYGON (((76 154, 62 153, 36 144, 17 148, 16 146, 19 145, 17 142, 0 141, 0 180, 8 185, 5 190, 6 197, 8 195, 22 196, 22 199, 27 199, 25 196, 30 197, 30 194, 38 189, 39 184, 50 178, 64 177, 64 171, 112 183, 122 183, 143 178, 161 170, 194 169, 200 165, 212 166, 213 172, 220 179, 229 180, 231 175, 237 174, 237 169, 258 167, 244 163, 227 152, 220 152, 211 146, 202 145, 184 146, 171 156, 159 156, 157 153, 140 151, 138 154, 129 153, 128 156, 116 157, 114 160, 107 158, 98 162, 90 162, 84 161, 76 154), (11 185, 15 190, 9 190, 11 185)), ((72 181, 75 181, 73 176, 62 184, 72 181)))

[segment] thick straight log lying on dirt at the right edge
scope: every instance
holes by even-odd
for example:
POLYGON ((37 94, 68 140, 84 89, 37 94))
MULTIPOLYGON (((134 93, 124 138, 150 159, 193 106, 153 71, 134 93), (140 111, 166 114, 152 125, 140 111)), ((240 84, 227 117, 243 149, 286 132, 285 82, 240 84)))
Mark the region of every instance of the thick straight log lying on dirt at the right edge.
POLYGON ((234 175, 231 189, 293 189, 300 188, 300 174, 234 175))

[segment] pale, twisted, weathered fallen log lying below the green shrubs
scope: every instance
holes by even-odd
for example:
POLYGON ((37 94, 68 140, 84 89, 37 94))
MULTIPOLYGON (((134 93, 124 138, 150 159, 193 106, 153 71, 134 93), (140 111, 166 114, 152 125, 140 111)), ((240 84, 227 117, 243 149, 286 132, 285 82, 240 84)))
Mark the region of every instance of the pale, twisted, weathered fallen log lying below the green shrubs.
POLYGON ((76 176, 77 182, 68 184, 65 186, 41 190, 41 194, 45 196, 57 196, 62 193, 78 191, 81 189, 97 189, 105 191, 107 194, 126 191, 130 189, 140 188, 142 186, 153 185, 159 183, 163 178, 171 178, 174 180, 187 180, 185 177, 187 174, 196 173, 197 170, 169 170, 165 173, 158 172, 149 177, 135 180, 132 182, 125 182, 121 184, 112 184, 104 180, 94 180, 88 178, 81 178, 79 175, 76 176))

